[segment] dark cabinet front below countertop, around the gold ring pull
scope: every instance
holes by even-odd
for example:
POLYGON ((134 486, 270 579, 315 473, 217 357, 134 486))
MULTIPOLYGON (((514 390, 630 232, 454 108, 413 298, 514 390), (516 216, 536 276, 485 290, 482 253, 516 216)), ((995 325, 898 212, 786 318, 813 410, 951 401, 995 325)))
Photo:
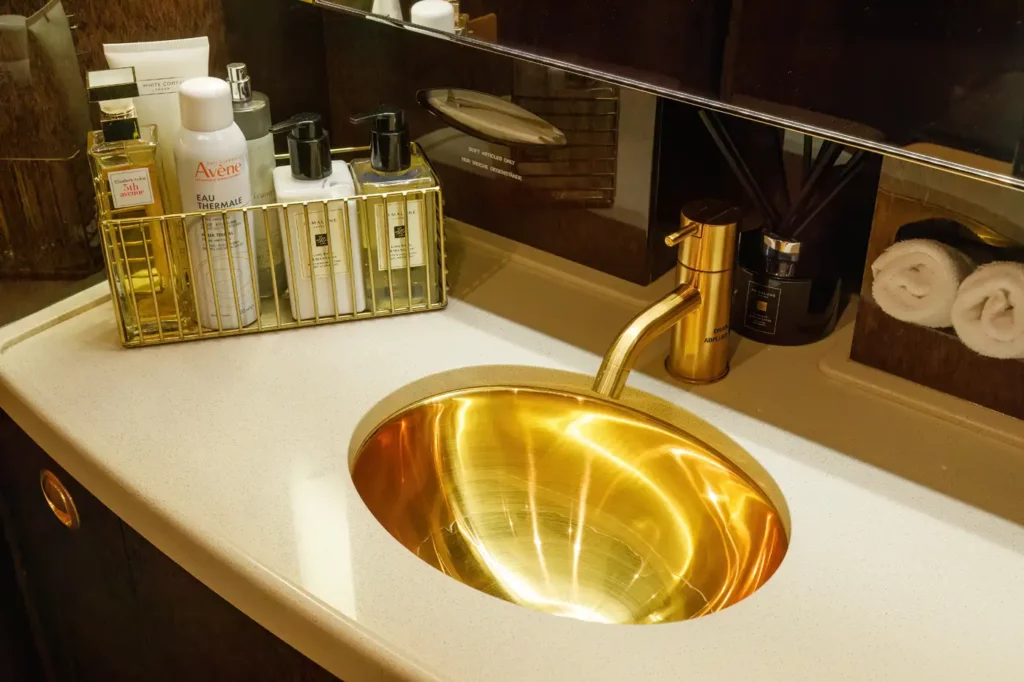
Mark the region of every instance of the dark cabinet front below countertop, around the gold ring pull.
POLYGON ((337 682, 121 521, 2 414, 0 503, 44 679, 337 682), (43 471, 73 500, 78 527, 48 506, 43 471))

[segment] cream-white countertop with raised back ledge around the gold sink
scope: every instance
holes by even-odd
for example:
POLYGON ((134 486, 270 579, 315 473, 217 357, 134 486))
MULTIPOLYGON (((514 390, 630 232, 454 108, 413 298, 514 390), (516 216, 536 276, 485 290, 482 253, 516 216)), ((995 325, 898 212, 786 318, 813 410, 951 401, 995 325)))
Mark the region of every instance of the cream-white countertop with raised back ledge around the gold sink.
POLYGON ((367 413, 460 368, 592 376, 652 295, 479 239, 453 240, 445 311, 247 338, 123 350, 99 285, 0 330, 0 408, 158 548, 347 682, 1024 678, 1024 527, 879 468, 1019 520, 1024 453, 826 379, 818 346, 744 342, 728 379, 687 391, 663 380, 656 344, 630 380, 726 432, 785 496, 788 554, 739 604, 587 624, 420 562, 349 477, 367 413))

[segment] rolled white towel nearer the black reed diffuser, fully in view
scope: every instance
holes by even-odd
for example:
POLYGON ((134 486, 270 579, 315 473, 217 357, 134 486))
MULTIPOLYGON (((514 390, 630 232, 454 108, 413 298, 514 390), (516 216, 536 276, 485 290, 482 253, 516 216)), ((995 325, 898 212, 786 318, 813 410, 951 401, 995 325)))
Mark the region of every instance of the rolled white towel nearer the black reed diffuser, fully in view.
POLYGON ((896 319, 924 327, 949 327, 956 290, 974 263, 963 253, 931 240, 897 242, 873 263, 874 302, 896 319))

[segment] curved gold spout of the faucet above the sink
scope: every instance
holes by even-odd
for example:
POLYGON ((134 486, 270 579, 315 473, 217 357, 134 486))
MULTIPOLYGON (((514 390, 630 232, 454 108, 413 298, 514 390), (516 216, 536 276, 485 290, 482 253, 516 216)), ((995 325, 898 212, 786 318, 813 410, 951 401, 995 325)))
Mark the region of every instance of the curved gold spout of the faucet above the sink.
POLYGON ((644 347, 698 307, 700 292, 682 284, 634 317, 604 354, 594 380, 594 391, 610 398, 622 395, 626 378, 644 347))

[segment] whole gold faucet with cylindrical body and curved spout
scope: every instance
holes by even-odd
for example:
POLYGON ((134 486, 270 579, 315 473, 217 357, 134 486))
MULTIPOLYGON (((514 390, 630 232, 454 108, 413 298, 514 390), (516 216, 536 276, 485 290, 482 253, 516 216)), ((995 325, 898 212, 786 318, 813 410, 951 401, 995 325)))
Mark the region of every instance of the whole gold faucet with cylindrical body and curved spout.
POLYGON ((679 231, 665 238, 679 246, 677 287, 634 317, 604 354, 594 391, 616 398, 644 347, 672 329, 669 374, 708 384, 729 373, 729 304, 736 260, 739 209, 716 200, 683 207, 679 231))

